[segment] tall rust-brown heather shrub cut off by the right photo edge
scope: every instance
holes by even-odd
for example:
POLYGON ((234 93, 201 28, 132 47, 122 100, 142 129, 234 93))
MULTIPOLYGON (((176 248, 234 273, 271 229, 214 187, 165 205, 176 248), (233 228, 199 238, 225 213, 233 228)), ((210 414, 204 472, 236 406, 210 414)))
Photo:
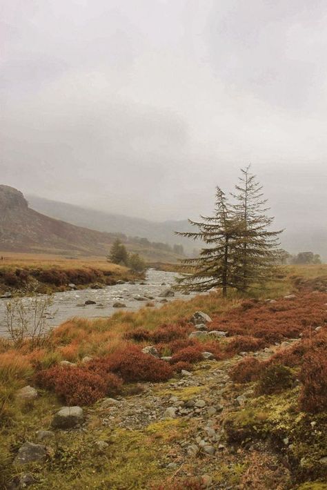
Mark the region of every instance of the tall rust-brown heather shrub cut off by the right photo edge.
POLYGON ((312 413, 327 410, 326 351, 315 350, 304 357, 299 379, 303 384, 299 398, 301 410, 312 413))

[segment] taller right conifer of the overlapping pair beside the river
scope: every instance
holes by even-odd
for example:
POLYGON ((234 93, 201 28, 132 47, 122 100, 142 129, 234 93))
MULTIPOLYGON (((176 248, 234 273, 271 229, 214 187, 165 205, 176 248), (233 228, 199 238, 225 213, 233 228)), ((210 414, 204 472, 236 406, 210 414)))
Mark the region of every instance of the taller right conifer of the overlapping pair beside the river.
POLYGON ((234 250, 233 273, 237 288, 246 291, 251 284, 259 285, 269 280, 279 258, 278 235, 282 230, 270 229, 274 218, 266 215, 269 210, 267 199, 264 199, 262 186, 255 175, 250 173, 250 166, 241 168, 235 189, 232 210, 240 233, 234 250))

